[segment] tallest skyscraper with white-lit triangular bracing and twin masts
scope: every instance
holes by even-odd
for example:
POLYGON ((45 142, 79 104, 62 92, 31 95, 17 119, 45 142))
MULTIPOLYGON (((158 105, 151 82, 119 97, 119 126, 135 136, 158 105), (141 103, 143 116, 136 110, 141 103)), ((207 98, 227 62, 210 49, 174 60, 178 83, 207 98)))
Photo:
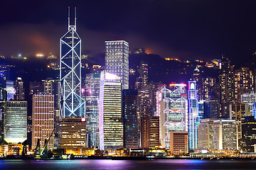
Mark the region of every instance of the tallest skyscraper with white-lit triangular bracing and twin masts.
MULTIPOLYGON (((69 8, 68 8, 69 9, 69 8)), ((81 39, 75 25, 60 38, 60 116, 85 117, 85 101, 81 98, 81 39)))

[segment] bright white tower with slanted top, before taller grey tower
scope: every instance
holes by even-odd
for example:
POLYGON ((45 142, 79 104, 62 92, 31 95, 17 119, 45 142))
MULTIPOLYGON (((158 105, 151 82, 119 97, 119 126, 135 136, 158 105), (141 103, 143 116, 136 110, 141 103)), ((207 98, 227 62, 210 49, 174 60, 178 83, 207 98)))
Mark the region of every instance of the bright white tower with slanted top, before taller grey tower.
POLYGON ((100 75, 100 149, 123 147, 121 78, 102 71, 100 75))

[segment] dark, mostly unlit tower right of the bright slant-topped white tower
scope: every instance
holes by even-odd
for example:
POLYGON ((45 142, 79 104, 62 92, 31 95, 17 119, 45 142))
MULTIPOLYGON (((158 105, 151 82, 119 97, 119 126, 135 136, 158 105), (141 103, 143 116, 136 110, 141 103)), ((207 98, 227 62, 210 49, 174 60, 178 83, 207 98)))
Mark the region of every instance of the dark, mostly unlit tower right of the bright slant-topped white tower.
POLYGON ((122 113, 124 118, 124 148, 139 147, 137 90, 122 91, 122 113))

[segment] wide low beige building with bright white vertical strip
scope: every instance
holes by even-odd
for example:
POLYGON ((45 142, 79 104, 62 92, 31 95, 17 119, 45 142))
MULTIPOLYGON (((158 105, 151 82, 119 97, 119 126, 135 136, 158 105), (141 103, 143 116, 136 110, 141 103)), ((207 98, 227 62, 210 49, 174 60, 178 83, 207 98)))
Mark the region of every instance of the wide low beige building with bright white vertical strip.
POLYGON ((235 120, 213 121, 213 149, 238 149, 235 120))

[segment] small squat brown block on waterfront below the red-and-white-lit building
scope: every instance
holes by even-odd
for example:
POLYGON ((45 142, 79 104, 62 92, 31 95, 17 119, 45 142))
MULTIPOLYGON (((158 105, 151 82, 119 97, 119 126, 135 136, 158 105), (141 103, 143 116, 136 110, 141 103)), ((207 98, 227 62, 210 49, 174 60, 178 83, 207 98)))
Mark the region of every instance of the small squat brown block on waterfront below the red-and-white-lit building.
POLYGON ((188 154, 188 132, 170 132, 170 152, 173 155, 188 154))

